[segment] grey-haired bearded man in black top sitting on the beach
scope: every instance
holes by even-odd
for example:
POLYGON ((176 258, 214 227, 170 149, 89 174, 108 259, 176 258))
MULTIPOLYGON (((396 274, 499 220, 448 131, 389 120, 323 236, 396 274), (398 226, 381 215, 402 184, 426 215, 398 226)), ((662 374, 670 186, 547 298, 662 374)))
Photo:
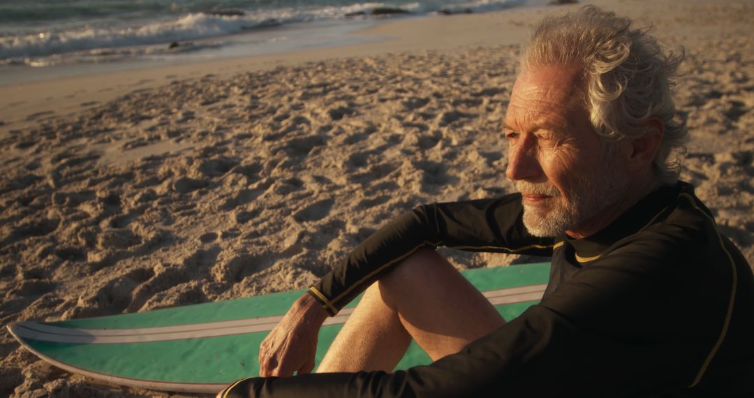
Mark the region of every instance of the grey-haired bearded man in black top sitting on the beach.
POLYGON ((545 20, 505 118, 520 193, 386 225, 265 339, 268 377, 220 396, 754 396, 752 271, 669 157, 678 63, 597 8, 545 20), (552 256, 544 298, 505 323, 440 245, 552 256), (412 338, 435 362, 390 372, 412 338))

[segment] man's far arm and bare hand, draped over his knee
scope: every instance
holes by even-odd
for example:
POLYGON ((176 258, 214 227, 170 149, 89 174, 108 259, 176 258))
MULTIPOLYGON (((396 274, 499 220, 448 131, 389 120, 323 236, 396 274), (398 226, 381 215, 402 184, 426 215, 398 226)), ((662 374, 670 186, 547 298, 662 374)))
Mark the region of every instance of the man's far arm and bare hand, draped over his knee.
POLYGON ((299 298, 262 341, 259 374, 287 377, 293 372, 311 372, 317 332, 326 314, 335 315, 369 284, 422 247, 445 245, 463 250, 551 254, 550 240, 532 237, 524 230, 520 203, 516 194, 432 204, 417 207, 388 223, 312 286, 309 295, 299 298))

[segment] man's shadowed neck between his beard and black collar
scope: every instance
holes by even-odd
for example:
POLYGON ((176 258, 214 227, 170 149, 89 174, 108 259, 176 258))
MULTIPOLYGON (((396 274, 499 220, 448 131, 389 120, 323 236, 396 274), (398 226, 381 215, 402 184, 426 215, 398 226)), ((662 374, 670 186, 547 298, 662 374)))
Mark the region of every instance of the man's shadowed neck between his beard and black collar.
POLYGON ((569 237, 581 239, 602 231, 603 228, 614 222, 621 214, 633 207, 636 202, 657 189, 658 183, 654 178, 639 179, 627 184, 622 194, 616 196, 617 200, 605 206, 594 216, 584 220, 578 228, 566 230, 569 237))

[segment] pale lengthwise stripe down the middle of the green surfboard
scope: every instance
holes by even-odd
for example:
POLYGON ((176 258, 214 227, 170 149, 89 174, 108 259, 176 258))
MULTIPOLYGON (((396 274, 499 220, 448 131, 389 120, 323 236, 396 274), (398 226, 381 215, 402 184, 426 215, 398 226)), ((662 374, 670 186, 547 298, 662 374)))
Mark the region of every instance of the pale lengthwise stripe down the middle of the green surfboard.
MULTIPOLYGON (((519 286, 483 292, 492 305, 531 302, 542 297, 546 284, 519 286)), ((345 323, 353 308, 344 308, 325 325, 345 323)), ((261 317, 243 320, 195 323, 179 326, 155 326, 133 329, 74 329, 44 323, 20 322, 9 326, 23 338, 73 344, 128 344, 152 341, 184 340, 225 335, 239 335, 271 330, 282 317, 261 317)))

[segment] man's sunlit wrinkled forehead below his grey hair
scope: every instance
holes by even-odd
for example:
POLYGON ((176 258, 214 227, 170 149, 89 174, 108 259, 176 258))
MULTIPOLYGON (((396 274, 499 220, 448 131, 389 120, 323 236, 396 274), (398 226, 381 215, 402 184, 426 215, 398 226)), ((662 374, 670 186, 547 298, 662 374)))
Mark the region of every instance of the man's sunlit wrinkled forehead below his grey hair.
POLYGON ((580 100, 581 69, 576 66, 541 66, 523 72, 510 93, 506 124, 528 128, 530 124, 568 127, 584 117, 580 100))

